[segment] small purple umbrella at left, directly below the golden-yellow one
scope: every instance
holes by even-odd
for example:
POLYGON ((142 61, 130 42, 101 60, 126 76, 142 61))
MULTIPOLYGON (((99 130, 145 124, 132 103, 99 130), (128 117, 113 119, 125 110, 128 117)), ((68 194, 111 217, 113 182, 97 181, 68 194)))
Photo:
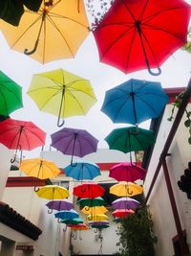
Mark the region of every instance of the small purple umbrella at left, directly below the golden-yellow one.
POLYGON ((70 211, 74 208, 74 205, 69 200, 52 200, 49 201, 46 206, 49 208, 48 213, 53 213, 53 210, 57 211, 70 211))

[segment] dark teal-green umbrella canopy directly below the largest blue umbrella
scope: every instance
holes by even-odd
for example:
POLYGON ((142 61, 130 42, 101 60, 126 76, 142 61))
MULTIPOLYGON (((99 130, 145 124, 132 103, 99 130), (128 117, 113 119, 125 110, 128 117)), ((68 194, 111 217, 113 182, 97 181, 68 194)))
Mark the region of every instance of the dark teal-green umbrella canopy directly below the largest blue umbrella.
POLYGON ((106 138, 111 150, 144 151, 155 143, 153 130, 129 127, 116 128, 106 138))

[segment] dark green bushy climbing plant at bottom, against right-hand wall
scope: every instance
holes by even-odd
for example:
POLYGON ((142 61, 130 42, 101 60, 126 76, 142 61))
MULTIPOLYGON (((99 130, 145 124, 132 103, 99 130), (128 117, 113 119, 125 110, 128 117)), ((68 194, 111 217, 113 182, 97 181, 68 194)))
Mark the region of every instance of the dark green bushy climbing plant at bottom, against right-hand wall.
POLYGON ((118 227, 120 255, 154 256, 157 237, 153 232, 153 221, 148 206, 142 206, 135 214, 121 221, 118 227))

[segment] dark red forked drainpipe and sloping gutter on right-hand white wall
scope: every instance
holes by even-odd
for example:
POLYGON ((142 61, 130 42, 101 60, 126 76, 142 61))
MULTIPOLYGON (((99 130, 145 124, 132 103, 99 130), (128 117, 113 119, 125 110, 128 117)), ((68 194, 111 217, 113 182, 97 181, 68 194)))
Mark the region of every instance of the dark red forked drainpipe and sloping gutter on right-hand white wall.
POLYGON ((166 142, 164 144, 164 148, 161 151, 161 154, 160 154, 160 157, 159 157, 159 164, 158 164, 156 172, 155 172, 155 174, 153 176, 153 179, 152 179, 149 191, 147 193, 147 196, 145 198, 145 203, 146 203, 148 201, 148 199, 150 198, 151 192, 153 190, 153 187, 154 187, 155 182, 156 182, 156 180, 158 178, 158 175, 159 175, 159 170, 160 170, 160 168, 162 166, 163 167, 165 181, 166 181, 166 185, 167 185, 167 189, 168 189, 168 194, 169 194, 169 198, 170 198, 170 202, 171 202, 171 207, 172 207, 172 210, 173 210, 173 216, 174 216, 176 228, 177 228, 177 232, 178 232, 178 235, 179 235, 179 238, 180 238, 180 251, 181 251, 181 255, 184 255, 186 253, 186 247, 185 247, 185 243, 184 243, 184 240, 183 240, 183 234, 182 234, 182 229, 181 229, 181 225, 180 225, 179 212, 178 212, 178 209, 177 209, 176 200, 174 198, 173 189, 172 189, 172 186, 171 186, 170 176, 168 174, 168 168, 167 168, 167 165, 166 165, 165 157, 167 155, 169 155, 168 154, 168 150, 169 150, 169 148, 171 146, 171 143, 172 143, 172 141, 174 139, 174 136, 175 136, 175 134, 177 132, 177 129, 179 128, 181 118, 182 118, 182 116, 184 114, 184 111, 185 111, 185 108, 186 108, 186 106, 187 106, 187 104, 189 102, 190 96, 191 96, 191 79, 188 82, 188 86, 187 86, 187 89, 186 89, 186 91, 185 91, 185 93, 183 95, 179 111, 177 113, 177 116, 175 118, 173 126, 172 126, 172 128, 171 128, 171 130, 169 132, 169 135, 168 135, 168 137, 166 139, 166 142))

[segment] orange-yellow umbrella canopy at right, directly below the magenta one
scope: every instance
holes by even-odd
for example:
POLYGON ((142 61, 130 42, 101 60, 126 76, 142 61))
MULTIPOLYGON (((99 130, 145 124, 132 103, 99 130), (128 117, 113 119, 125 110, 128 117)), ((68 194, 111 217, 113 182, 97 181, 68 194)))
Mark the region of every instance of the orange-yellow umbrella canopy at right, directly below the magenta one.
POLYGON ((143 188, 132 182, 120 182, 110 188, 110 194, 117 197, 134 197, 143 192, 143 188))

